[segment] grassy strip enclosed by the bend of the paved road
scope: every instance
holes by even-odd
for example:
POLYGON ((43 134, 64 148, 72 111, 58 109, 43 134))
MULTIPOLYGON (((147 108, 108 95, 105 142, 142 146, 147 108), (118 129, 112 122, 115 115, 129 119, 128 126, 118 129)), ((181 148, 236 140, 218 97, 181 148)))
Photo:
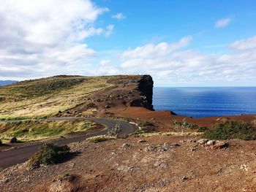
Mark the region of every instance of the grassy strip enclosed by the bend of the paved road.
POLYGON ((30 141, 58 137, 70 132, 88 131, 97 126, 83 120, 20 120, 0 122, 2 139, 18 137, 19 140, 30 141))

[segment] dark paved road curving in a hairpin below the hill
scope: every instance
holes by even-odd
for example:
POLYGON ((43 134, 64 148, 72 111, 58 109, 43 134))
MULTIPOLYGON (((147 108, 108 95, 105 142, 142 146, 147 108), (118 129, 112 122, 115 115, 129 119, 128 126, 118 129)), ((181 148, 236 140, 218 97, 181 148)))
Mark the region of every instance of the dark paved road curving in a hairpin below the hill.
MULTIPOLYGON (((119 120, 104 119, 104 118, 49 118, 48 120, 93 120, 96 123, 104 124, 105 126, 108 127, 104 131, 99 131, 97 133, 86 134, 83 136, 67 138, 67 139, 59 139, 59 140, 53 141, 53 143, 56 145, 67 145, 71 142, 83 141, 84 139, 89 137, 107 134, 108 129, 114 128, 116 124, 119 124, 121 128, 121 132, 118 134, 118 137, 124 137, 125 135, 135 132, 138 129, 137 126, 131 123, 127 123, 119 120)), ((0 152, 0 167, 5 169, 15 164, 24 163, 29 159, 29 157, 31 157, 31 155, 34 155, 34 153, 36 153, 37 150, 39 150, 39 147, 42 146, 42 144, 43 142, 39 142, 34 145, 19 147, 13 150, 0 152)))

